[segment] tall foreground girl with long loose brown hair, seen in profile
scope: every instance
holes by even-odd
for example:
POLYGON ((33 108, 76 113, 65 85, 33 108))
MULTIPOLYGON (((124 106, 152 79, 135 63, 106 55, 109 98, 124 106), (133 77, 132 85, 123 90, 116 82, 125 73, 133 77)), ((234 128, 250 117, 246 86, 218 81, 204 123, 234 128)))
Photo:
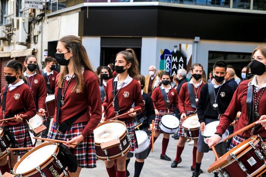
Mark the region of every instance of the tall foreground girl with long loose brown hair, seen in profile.
POLYGON ((93 130, 101 119, 99 83, 79 37, 62 37, 56 50, 55 59, 64 67, 56 79, 57 107, 49 138, 67 141, 78 161, 77 171, 69 174, 79 176, 81 168, 96 167, 93 130))

